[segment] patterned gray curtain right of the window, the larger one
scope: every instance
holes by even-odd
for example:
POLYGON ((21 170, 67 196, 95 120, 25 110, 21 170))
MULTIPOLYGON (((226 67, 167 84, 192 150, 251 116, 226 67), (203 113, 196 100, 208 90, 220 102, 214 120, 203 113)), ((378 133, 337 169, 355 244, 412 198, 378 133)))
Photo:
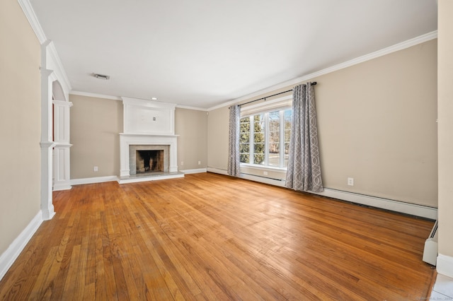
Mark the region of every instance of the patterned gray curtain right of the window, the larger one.
POLYGON ((286 187, 299 191, 323 191, 319 162, 318 127, 314 87, 311 83, 292 90, 292 126, 286 187))

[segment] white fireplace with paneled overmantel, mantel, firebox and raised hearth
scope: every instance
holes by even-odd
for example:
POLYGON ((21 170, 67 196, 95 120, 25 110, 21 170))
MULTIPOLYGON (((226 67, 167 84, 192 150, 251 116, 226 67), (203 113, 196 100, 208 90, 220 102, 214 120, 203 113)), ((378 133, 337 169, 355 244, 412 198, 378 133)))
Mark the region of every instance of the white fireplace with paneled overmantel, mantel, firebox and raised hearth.
POLYGON ((122 98, 120 184, 184 177, 178 172, 174 131, 176 105, 122 98))

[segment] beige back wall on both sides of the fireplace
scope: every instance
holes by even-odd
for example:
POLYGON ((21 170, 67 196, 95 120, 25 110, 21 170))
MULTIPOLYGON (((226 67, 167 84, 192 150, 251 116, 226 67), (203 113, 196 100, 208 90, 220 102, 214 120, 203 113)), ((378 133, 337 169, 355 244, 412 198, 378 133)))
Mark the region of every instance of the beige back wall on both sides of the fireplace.
MULTIPOLYGON (((120 175, 122 102, 69 95, 71 107, 71 179, 120 175), (98 172, 93 167, 98 166, 98 172)), ((176 108, 178 169, 207 166, 207 114, 176 108), (181 161, 184 165, 180 165, 181 161), (200 161, 200 165, 198 165, 200 161)))

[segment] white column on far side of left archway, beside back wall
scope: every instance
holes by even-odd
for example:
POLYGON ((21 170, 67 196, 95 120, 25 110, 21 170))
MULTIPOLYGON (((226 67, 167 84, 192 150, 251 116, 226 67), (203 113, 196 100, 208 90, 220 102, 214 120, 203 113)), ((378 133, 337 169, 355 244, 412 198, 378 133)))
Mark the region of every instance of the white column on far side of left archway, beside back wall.
POLYGON ((70 184, 70 148, 69 143, 69 108, 72 102, 53 100, 54 105, 54 191, 71 189, 70 184))

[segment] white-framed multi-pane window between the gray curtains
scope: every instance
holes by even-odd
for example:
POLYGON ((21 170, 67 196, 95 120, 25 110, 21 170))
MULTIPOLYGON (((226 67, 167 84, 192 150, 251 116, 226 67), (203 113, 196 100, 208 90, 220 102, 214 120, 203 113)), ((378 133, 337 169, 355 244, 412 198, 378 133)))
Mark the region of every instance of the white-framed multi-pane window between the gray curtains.
POLYGON ((291 117, 291 109, 242 117, 239 138, 241 163, 287 167, 291 117))

